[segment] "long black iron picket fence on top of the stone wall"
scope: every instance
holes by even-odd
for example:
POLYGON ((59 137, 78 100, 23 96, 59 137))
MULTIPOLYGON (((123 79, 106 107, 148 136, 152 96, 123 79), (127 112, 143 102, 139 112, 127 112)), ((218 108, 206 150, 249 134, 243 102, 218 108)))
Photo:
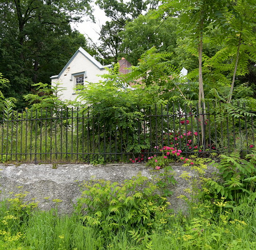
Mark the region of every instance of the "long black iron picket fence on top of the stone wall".
POLYGON ((247 153, 255 146, 254 114, 206 105, 136 107, 113 116, 88 110, 4 111, 1 162, 142 162, 164 146, 197 153, 247 153))

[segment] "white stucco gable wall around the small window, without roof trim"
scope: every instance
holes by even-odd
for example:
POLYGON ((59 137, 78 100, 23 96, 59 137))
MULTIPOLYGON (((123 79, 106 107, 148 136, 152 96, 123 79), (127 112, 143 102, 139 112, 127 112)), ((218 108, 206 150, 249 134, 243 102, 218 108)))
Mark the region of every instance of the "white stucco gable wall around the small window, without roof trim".
POLYGON ((58 77, 52 79, 52 86, 56 86, 56 83, 60 83, 60 87, 67 88, 63 90, 60 94, 61 100, 75 100, 77 94, 75 94, 75 77, 72 77, 72 74, 79 72, 86 72, 86 78, 84 79, 84 86, 86 87, 87 82, 99 82, 103 80, 97 75, 106 74, 105 69, 101 70, 97 67, 92 61, 90 61, 86 56, 81 52, 78 52, 76 57, 70 62, 67 69, 58 77), (72 81, 70 80, 72 79, 72 81))

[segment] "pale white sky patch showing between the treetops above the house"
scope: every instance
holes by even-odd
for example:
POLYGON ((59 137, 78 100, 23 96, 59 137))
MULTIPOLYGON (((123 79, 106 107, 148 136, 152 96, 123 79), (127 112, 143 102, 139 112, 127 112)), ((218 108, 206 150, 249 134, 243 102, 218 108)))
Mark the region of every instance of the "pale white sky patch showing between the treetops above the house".
POLYGON ((82 22, 77 22, 75 24, 71 24, 73 29, 78 30, 84 36, 90 37, 94 43, 97 43, 99 35, 97 32, 100 32, 101 26, 105 24, 106 21, 111 20, 110 18, 105 16, 103 10, 101 10, 98 6, 93 6, 94 8, 94 16, 95 16, 95 24, 90 20, 88 16, 82 18, 82 22))

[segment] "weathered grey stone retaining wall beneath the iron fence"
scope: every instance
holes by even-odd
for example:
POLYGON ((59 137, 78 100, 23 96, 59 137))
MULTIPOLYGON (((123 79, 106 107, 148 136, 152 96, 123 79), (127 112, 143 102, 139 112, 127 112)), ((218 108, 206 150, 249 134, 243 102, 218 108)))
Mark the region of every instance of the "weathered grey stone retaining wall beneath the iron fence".
MULTIPOLYGON (((79 184, 84 180, 105 179, 122 182, 141 173, 152 179, 159 171, 152 171, 144 164, 109 164, 109 165, 88 165, 88 164, 22 164, 22 165, 0 165, 0 199, 12 197, 13 193, 29 192, 27 200, 35 198, 39 202, 38 207, 42 210, 49 210, 55 206, 53 199, 60 199, 58 204, 61 213, 70 213, 73 204, 80 196, 79 184)), ((195 172, 183 167, 181 164, 174 164, 175 179, 178 184, 170 187, 174 194, 169 197, 172 208, 175 211, 185 211, 186 204, 177 196, 184 193, 184 189, 190 187, 190 181, 181 178, 183 171, 189 172, 191 177, 196 177, 195 172)), ((216 171, 208 167, 206 177, 216 171)))

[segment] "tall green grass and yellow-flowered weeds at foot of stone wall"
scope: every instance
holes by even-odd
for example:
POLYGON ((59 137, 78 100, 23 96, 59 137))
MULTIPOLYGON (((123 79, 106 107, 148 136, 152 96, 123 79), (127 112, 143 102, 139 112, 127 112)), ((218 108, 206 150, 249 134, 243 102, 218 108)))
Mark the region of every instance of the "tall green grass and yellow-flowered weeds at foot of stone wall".
POLYGON ((169 214, 167 223, 158 221, 155 230, 140 235, 131 225, 102 230, 84 223, 81 214, 58 215, 57 209, 24 206, 21 198, 6 200, 0 204, 0 249, 255 249, 255 202, 246 197, 234 206, 221 202, 201 203, 200 212, 191 215, 169 214))

